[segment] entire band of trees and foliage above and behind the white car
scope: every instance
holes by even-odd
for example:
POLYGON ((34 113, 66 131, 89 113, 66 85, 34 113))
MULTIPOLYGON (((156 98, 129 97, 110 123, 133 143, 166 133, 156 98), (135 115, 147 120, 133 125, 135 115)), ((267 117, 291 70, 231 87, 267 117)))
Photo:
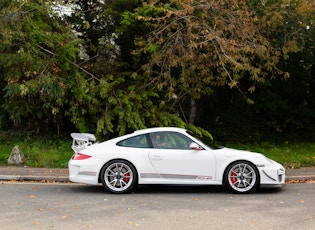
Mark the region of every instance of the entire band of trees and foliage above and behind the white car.
POLYGON ((309 0, 3 0, 0 129, 312 141, 314 11, 309 0))

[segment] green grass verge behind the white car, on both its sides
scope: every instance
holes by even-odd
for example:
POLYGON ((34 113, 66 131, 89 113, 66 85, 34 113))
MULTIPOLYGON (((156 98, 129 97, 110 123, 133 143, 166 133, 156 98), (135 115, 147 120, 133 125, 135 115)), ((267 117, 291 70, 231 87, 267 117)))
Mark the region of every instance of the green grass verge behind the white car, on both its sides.
MULTIPOLYGON (((24 153, 29 167, 66 168, 73 151, 70 135, 35 135, 32 132, 0 132, 0 164, 7 165, 16 145, 24 153)), ((263 153, 286 168, 315 166, 315 143, 228 143, 227 147, 263 153)))

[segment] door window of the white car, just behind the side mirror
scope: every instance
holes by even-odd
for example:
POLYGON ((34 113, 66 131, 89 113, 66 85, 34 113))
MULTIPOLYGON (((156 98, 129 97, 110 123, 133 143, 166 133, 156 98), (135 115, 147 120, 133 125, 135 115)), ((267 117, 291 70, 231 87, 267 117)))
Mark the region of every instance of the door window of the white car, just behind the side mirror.
POLYGON ((193 142, 190 138, 176 132, 151 133, 150 138, 154 148, 157 149, 189 149, 193 142))

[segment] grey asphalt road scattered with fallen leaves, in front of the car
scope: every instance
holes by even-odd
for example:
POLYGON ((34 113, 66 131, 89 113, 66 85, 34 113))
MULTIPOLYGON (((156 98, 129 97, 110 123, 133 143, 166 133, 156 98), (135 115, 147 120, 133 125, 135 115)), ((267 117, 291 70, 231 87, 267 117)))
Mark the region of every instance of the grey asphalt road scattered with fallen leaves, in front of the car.
POLYGON ((101 186, 0 184, 1 229, 314 229, 315 183, 248 195, 221 187, 142 187, 112 195, 101 186))

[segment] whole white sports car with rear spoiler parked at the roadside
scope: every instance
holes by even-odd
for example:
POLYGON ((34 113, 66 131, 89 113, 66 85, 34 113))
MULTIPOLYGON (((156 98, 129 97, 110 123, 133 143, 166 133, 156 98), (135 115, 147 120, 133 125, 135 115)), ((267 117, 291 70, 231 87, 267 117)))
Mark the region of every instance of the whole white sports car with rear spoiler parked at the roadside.
POLYGON ((70 181, 101 182, 111 193, 144 184, 224 185, 234 193, 285 184, 285 169, 277 162, 259 153, 209 147, 185 129, 143 129, 102 143, 93 143, 92 134, 71 136, 70 181))

